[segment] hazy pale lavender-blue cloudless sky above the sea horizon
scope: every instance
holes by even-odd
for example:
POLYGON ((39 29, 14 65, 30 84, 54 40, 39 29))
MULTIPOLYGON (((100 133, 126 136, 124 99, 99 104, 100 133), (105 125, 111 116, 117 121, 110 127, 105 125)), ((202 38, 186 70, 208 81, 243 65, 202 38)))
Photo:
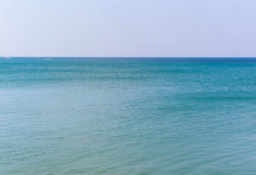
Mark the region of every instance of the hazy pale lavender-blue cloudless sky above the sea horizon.
POLYGON ((0 0, 0 56, 255 57, 255 0, 0 0))

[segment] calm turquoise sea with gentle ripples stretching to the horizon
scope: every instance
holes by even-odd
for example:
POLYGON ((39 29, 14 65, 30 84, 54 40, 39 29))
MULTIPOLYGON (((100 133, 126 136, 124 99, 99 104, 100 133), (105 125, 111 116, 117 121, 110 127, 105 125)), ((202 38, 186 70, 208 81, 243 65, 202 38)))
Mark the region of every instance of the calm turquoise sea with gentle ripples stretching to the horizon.
POLYGON ((0 174, 256 174, 256 59, 0 59, 0 174))

